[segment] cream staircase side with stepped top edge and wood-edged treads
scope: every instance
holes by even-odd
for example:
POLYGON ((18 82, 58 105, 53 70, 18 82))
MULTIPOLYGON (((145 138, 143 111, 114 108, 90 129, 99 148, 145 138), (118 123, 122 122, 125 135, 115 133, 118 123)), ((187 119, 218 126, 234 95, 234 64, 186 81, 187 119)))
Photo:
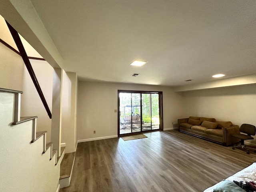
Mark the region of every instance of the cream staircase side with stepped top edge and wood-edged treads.
POLYGON ((36 130, 37 116, 20 117, 21 91, 0 88, 0 189, 58 192, 60 163, 46 131, 36 130))

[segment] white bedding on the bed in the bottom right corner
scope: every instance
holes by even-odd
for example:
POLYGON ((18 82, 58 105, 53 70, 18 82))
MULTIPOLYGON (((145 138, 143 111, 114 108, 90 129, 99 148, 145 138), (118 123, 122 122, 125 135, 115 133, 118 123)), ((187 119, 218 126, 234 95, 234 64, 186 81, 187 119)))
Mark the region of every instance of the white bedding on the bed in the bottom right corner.
MULTIPOLYGON (((251 164, 250 166, 244 168, 243 170, 235 173, 234 175, 226 178, 226 180, 230 181, 256 181, 256 162, 251 164)), ((214 188, 221 184, 224 181, 221 181, 210 188, 204 190, 204 192, 213 192, 214 188)))

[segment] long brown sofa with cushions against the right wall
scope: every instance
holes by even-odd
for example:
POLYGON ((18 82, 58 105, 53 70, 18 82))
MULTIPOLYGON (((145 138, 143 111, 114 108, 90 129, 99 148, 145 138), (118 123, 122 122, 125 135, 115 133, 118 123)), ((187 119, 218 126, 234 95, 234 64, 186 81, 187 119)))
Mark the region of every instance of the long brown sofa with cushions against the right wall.
POLYGON ((232 133, 240 133, 239 126, 231 121, 216 121, 215 118, 193 117, 178 119, 178 129, 193 136, 204 138, 212 142, 230 146, 239 142, 230 136, 232 133))

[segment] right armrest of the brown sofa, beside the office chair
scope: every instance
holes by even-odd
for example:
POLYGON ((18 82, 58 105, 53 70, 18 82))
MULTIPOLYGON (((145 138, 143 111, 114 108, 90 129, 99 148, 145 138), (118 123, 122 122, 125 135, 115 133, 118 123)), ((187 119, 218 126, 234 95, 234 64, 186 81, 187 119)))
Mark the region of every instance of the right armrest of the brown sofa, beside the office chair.
POLYGON ((222 127, 222 133, 223 133, 223 141, 226 143, 226 146, 239 142, 239 139, 231 136, 231 134, 233 133, 240 133, 238 125, 222 127))

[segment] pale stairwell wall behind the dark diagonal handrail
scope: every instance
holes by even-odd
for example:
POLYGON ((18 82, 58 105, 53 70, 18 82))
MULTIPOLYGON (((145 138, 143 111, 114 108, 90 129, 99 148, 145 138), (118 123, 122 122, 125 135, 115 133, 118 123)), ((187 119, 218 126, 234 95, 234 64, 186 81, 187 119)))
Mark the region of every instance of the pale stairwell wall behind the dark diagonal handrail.
MULTIPOLYGON (((30 59, 30 63, 36 74, 36 78, 40 84, 41 90, 44 94, 50 111, 52 111, 53 68, 48 64, 48 62, 42 60, 30 59)), ((38 92, 36 91, 36 88, 26 68, 23 74, 22 91, 23 94, 21 100, 21 116, 38 116, 37 130, 46 130, 48 134, 47 142, 50 142, 52 120, 49 118, 46 109, 44 108, 44 105, 38 95, 38 92)))

